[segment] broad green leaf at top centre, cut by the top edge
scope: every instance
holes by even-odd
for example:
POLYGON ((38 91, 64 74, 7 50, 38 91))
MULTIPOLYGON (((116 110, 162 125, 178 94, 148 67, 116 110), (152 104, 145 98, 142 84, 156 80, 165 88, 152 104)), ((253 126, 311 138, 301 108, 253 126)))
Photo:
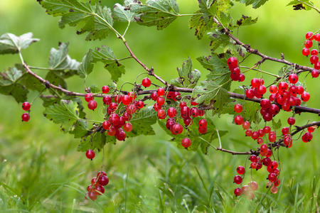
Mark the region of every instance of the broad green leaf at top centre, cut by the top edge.
POLYGON ((132 12, 139 14, 135 19, 143 26, 156 26, 162 30, 178 17, 176 0, 147 0, 146 4, 134 1, 130 5, 132 12))

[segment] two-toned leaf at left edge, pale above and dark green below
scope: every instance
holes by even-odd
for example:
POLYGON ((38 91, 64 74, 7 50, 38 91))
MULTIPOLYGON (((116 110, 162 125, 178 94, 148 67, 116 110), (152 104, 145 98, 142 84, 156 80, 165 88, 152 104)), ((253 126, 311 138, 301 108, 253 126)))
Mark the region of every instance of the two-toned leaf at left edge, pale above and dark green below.
POLYGON ((16 102, 26 102, 28 89, 20 84, 25 75, 17 67, 9 67, 8 70, 0 72, 0 93, 11 95, 16 102))

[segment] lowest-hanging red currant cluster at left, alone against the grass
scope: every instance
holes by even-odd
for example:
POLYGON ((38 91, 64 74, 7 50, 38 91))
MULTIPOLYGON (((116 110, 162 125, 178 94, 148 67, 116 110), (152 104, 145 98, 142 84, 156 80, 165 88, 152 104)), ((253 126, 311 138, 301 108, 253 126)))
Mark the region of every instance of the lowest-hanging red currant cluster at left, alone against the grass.
POLYGON ((105 186, 108 185, 109 178, 104 171, 97 173, 97 177, 91 179, 91 185, 87 186, 85 199, 89 197, 91 200, 96 200, 98 195, 105 193, 105 186))

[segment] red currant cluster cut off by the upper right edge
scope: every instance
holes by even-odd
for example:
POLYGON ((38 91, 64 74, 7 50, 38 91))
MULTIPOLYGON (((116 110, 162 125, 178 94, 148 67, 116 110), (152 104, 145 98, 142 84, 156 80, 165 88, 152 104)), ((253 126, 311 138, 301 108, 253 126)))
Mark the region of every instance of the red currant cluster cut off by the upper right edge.
POLYGON ((320 62, 318 57, 318 50, 313 49, 310 51, 310 48, 314 45, 312 40, 320 42, 320 34, 312 32, 306 33, 306 41, 304 42, 304 48, 302 49, 302 55, 308 56, 311 53, 310 62, 314 65, 314 70, 311 71, 312 77, 319 77, 320 62))

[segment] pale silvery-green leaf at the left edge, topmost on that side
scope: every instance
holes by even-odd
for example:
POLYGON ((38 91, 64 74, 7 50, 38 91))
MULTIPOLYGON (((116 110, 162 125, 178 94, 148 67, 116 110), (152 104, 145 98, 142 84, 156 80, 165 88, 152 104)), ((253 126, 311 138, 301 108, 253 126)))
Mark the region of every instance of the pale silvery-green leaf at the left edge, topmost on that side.
POLYGON ((32 38, 32 33, 26 33, 16 36, 11 33, 6 33, 0 36, 0 55, 8 53, 18 53, 19 50, 28 48, 31 43, 37 42, 38 38, 32 38))

